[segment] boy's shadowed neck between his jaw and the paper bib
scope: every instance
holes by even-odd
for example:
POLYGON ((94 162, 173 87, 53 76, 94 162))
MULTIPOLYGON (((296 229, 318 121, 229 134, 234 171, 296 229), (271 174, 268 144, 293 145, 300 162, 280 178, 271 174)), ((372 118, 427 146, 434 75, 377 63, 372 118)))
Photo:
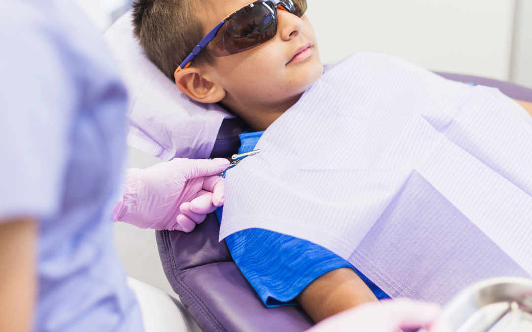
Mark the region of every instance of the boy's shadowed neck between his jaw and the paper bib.
POLYGON ((257 105, 256 103, 237 101, 230 96, 222 99, 222 104, 232 110, 255 131, 263 131, 275 122, 290 107, 294 106, 303 93, 293 98, 278 101, 275 104, 257 105))

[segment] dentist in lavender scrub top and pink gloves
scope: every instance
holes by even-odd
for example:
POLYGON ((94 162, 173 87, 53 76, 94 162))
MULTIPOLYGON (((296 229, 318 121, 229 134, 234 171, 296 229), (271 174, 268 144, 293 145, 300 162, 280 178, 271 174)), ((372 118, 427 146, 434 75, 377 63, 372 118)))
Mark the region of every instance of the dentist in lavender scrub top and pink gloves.
MULTIPOLYGON (((127 170, 124 185, 126 91, 99 31, 69 0, 0 3, 0 331, 140 332, 112 220, 190 232, 223 204, 215 174, 228 162, 174 159, 127 170)), ((438 317, 389 302, 312 331, 392 332, 438 317)))

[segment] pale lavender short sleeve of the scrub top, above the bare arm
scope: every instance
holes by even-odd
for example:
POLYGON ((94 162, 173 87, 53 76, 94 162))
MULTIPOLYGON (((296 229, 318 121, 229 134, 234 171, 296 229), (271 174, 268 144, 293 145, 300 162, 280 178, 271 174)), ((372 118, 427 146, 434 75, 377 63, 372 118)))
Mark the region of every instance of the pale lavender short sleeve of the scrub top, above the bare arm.
POLYGON ((14 8, 0 13, 0 222, 59 209, 76 100, 59 33, 23 3, 7 6, 14 8))

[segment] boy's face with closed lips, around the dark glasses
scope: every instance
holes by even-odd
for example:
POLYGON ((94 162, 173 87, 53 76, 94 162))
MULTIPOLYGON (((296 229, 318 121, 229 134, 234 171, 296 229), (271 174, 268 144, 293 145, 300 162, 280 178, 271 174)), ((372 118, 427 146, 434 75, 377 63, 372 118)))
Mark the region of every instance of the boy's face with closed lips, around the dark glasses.
MULTIPOLYGON (((203 5, 197 5, 204 35, 249 3, 250 0, 205 0, 203 5)), ((282 10, 277 14, 277 35, 272 40, 243 53, 215 58, 213 65, 201 69, 207 80, 225 90, 222 103, 255 129, 265 129, 261 128, 264 124, 254 125, 255 120, 272 117, 269 113, 283 108, 279 105, 287 106, 282 109, 284 112, 323 73, 310 21, 305 15, 298 18, 282 10)))

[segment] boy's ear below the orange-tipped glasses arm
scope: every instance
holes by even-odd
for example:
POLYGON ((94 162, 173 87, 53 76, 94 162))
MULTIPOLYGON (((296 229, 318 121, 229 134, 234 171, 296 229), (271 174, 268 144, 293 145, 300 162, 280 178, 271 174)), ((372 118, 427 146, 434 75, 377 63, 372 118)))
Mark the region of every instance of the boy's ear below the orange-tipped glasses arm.
POLYGON ((212 82, 209 75, 196 67, 178 71, 176 84, 179 90, 200 103, 218 103, 226 96, 225 89, 212 82))

